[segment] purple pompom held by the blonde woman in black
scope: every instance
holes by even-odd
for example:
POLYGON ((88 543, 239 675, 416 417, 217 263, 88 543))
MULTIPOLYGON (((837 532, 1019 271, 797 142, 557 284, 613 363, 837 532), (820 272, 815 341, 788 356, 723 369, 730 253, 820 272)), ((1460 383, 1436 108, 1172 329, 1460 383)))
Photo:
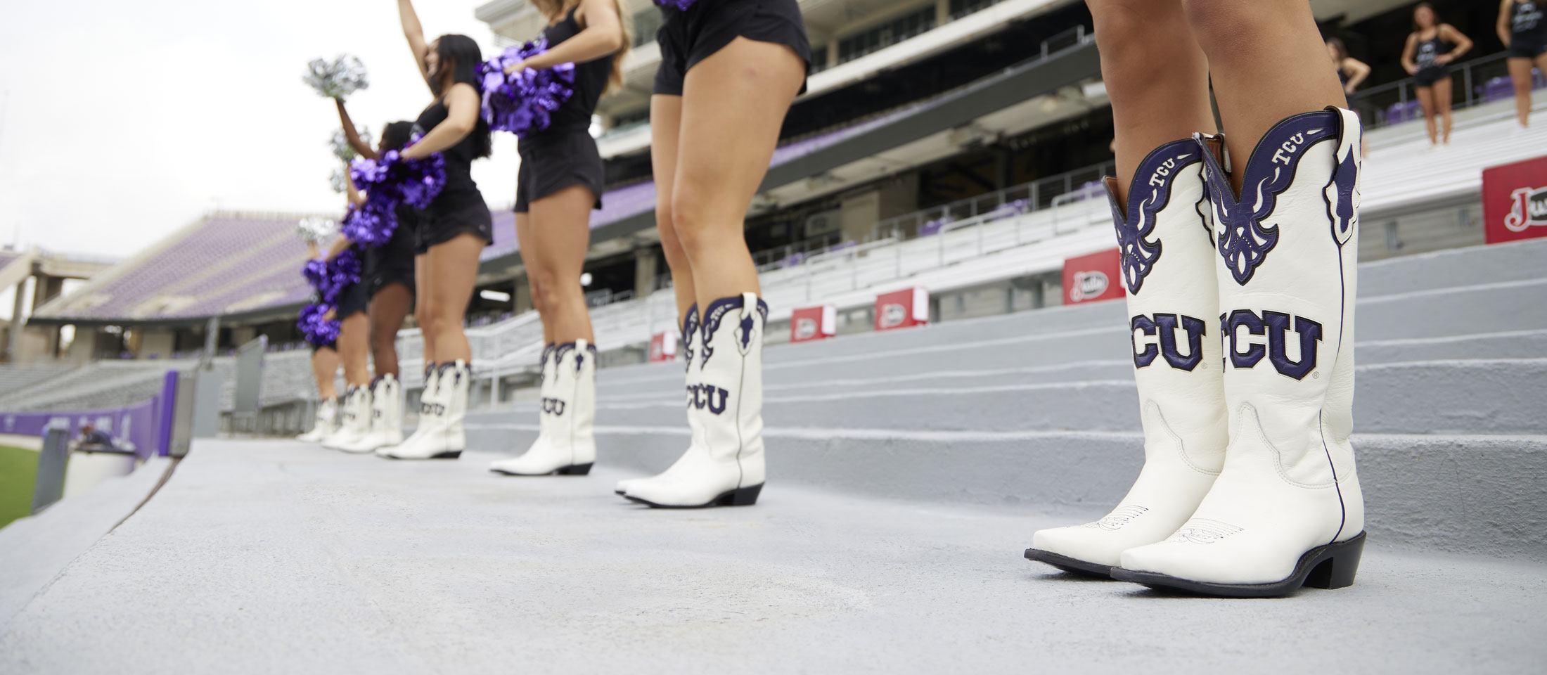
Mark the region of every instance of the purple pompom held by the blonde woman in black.
POLYGON ((548 128, 552 122, 552 113, 574 96, 574 63, 504 73, 504 68, 545 51, 548 51, 548 42, 538 39, 521 46, 511 46, 503 54, 478 63, 478 77, 483 85, 483 118, 489 122, 489 128, 526 138, 548 128))

